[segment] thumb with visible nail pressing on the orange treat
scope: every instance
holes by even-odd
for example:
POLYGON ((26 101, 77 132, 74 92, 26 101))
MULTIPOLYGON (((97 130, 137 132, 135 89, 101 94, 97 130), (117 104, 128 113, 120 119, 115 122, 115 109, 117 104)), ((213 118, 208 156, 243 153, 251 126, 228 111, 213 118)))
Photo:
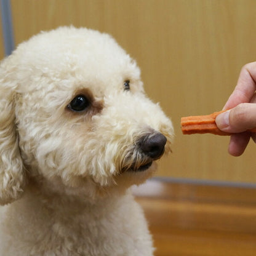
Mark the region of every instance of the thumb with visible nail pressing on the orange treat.
POLYGON ((223 132, 239 133, 256 127, 256 104, 241 103, 215 119, 223 132))

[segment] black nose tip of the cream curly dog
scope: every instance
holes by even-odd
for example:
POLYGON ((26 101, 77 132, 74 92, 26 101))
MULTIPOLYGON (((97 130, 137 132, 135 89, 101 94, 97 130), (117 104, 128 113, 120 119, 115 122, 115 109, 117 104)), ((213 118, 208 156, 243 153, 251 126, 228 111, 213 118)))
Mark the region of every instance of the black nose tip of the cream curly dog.
POLYGON ((160 132, 157 132, 140 138, 138 145, 144 154, 152 159, 158 159, 164 153, 166 142, 167 138, 160 132))

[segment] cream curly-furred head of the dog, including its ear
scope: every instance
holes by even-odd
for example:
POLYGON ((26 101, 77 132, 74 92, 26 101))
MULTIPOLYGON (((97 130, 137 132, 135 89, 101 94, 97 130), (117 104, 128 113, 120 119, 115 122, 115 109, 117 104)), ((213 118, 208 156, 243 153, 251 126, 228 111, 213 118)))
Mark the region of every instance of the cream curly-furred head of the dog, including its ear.
POLYGON ((58 28, 1 63, 1 204, 28 178, 73 191, 143 182, 172 136, 137 64, 108 34, 58 28))

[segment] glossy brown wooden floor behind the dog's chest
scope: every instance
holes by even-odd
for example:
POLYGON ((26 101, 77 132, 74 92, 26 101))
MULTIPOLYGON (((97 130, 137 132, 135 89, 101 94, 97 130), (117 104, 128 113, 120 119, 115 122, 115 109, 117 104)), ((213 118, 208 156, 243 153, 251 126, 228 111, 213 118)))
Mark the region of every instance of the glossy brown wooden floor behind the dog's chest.
POLYGON ((256 189, 150 180, 134 188, 156 256, 255 256, 256 189))

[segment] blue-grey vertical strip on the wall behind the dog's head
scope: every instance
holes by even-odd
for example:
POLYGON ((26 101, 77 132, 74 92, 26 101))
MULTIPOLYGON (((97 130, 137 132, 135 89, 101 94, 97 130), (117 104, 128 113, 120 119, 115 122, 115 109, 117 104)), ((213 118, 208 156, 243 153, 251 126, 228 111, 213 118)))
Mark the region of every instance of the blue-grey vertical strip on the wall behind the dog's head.
POLYGON ((0 0, 2 17, 2 34, 4 39, 4 52, 10 55, 14 50, 14 31, 12 28, 12 12, 9 0, 0 0))

